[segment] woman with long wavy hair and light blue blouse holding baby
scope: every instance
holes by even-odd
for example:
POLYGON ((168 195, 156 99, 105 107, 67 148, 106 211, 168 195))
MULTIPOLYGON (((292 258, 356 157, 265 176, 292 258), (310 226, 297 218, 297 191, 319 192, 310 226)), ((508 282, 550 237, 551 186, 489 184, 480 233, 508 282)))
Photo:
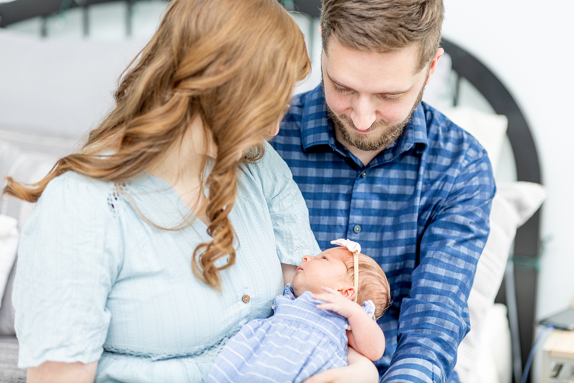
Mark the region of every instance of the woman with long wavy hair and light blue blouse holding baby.
MULTIPOLYGON (((40 182, 13 304, 28 382, 201 382, 319 247, 265 140, 309 71, 275 0, 173 0, 116 105, 40 182), (283 264, 283 265, 281 265, 283 264)), ((376 381, 352 363, 315 381, 376 381)), ((353 359, 354 358, 354 359, 353 359)))

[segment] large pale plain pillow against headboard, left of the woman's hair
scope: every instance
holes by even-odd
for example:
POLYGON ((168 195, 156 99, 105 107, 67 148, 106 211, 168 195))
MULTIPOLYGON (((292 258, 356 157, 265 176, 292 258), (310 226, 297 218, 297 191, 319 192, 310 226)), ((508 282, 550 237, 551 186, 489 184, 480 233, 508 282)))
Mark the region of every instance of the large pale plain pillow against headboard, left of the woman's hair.
POLYGON ((82 136, 113 105, 119 75, 144 45, 0 30, 0 129, 82 136))

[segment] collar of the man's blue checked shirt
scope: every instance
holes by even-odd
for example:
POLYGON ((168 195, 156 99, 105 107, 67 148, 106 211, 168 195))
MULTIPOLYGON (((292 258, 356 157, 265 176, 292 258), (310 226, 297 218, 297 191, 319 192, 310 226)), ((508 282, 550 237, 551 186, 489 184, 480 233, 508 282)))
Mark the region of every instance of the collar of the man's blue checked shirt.
MULTIPOLYGON (((313 146, 319 145, 329 145, 337 152, 342 147, 342 145, 336 145, 333 122, 329 119, 327 108, 325 107, 325 97, 321 84, 309 92, 307 98, 305 98, 301 118, 301 143, 305 152, 313 146)), ((417 148, 417 153, 419 154, 424 152, 428 146, 426 118, 422 104, 414 110, 413 117, 405 126, 401 137, 379 153, 373 161, 386 163, 399 154, 413 148, 414 144, 420 144, 417 148)), ((348 151, 345 150, 345 152, 348 151)), ((352 156, 351 153, 348 154, 352 156)))

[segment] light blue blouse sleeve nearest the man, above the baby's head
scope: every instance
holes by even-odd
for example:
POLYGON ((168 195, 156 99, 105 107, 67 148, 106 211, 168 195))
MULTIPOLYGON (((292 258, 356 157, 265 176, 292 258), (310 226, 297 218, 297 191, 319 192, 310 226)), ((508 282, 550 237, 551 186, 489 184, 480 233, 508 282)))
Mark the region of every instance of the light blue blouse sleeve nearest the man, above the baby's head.
POLYGON ((298 265, 303 256, 319 254, 321 249, 311 231, 305 200, 288 165, 273 146, 265 144, 265 156, 253 165, 253 171, 261 179, 281 263, 298 265))

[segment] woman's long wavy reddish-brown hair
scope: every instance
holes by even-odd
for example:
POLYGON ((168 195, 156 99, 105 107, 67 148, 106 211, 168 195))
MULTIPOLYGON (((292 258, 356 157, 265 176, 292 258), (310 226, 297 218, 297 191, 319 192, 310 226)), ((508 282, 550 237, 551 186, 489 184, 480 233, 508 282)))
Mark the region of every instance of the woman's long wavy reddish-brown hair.
POLYGON ((121 183, 150 168, 199 115, 218 156, 204 180, 212 241, 196 247, 192 269, 220 289, 219 270, 235 262, 228 214, 238 167, 261 158, 263 137, 310 68, 301 32, 276 0, 173 0, 120 80, 114 110, 90 131, 82 150, 61 158, 36 184, 8 177, 4 193, 36 202, 49 181, 67 171, 121 183), (248 147, 238 159, 238 148, 248 147), (106 149, 115 154, 101 156, 106 149), (227 254, 227 264, 216 267, 227 254))

